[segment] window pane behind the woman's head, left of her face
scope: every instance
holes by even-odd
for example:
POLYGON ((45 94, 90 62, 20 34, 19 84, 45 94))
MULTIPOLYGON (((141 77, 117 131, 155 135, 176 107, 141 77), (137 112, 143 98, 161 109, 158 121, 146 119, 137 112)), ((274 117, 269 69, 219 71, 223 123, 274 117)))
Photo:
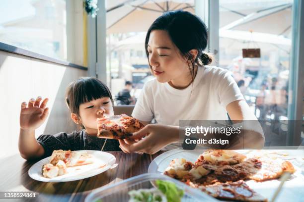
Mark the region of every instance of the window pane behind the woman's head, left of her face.
POLYGON ((137 98, 144 83, 154 78, 145 50, 146 32, 164 11, 178 9, 194 13, 194 0, 106 0, 107 85, 113 96, 131 81, 131 96, 137 98))

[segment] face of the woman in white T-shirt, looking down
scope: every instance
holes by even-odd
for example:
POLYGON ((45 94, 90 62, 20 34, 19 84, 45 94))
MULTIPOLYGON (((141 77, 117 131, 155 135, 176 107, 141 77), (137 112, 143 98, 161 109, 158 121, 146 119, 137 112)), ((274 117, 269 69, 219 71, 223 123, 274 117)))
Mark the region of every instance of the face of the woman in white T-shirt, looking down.
POLYGON ((153 30, 150 33, 147 49, 149 62, 157 81, 171 82, 175 87, 187 86, 191 82, 187 60, 172 43, 167 31, 153 30))

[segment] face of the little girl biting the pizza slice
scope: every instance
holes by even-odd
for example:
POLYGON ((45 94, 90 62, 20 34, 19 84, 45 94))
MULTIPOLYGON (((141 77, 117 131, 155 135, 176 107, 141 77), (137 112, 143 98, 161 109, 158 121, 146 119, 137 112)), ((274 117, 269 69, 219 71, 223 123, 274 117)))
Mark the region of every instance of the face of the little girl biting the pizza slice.
POLYGON ((96 119, 103 115, 113 116, 113 105, 110 98, 92 100, 79 106, 80 121, 89 135, 97 134, 96 119))

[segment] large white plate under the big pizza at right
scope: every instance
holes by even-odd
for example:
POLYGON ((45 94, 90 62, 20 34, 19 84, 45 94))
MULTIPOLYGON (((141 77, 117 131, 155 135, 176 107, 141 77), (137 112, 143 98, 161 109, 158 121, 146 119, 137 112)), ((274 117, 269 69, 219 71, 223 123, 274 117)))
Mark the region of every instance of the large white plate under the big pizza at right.
MULTIPOLYGON (((175 149, 168 152, 164 152, 153 159, 148 168, 148 173, 163 173, 168 167, 170 161, 174 158, 185 158, 188 161, 195 162, 197 157, 205 150, 181 150, 175 149)), ((235 150, 235 152, 243 153, 245 155, 253 155, 261 151, 255 150, 235 150)), ((304 198, 304 170, 293 162, 292 159, 296 157, 304 158, 303 150, 264 150, 262 151, 270 153, 268 156, 274 157, 274 152, 278 153, 276 157, 282 159, 288 159, 291 161, 296 168, 296 172, 292 175, 291 179, 284 183, 284 186, 276 199, 276 202, 300 202, 304 198), (285 155, 284 155, 285 154, 285 155)), ((249 180, 246 182, 250 188, 257 193, 261 194, 269 201, 271 201, 275 190, 279 187, 280 181, 277 179, 268 180, 264 182, 255 182, 249 180)))

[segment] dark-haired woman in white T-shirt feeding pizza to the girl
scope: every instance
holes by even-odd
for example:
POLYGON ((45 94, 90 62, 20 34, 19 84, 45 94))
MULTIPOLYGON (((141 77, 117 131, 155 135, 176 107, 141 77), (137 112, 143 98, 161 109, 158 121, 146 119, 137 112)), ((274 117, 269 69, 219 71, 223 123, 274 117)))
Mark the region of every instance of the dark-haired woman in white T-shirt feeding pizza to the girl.
MULTIPOLYGON (((155 153, 178 141, 181 119, 225 120, 228 112, 231 120, 256 120, 228 71, 204 66, 212 62, 207 41, 206 25, 187 11, 165 12, 152 23, 145 47, 156 79, 145 84, 132 113, 146 125, 133 139, 148 136, 120 141, 124 152, 155 153)), ((260 133, 249 139, 264 143, 260 133)))

